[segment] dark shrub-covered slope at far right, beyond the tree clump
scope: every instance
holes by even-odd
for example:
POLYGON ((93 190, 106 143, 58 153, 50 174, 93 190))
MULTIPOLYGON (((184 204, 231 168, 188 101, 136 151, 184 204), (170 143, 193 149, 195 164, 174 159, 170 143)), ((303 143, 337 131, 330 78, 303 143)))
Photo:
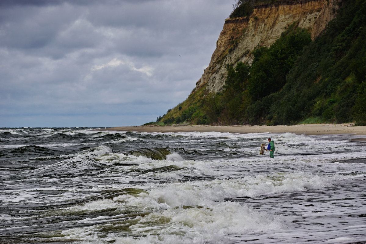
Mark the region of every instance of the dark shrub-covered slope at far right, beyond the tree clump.
MULTIPOLYGON (((265 113, 251 123, 320 122, 366 124, 366 1, 343 1, 344 6, 326 33, 304 49, 265 113)), ((252 106, 257 107, 261 101, 252 106)))

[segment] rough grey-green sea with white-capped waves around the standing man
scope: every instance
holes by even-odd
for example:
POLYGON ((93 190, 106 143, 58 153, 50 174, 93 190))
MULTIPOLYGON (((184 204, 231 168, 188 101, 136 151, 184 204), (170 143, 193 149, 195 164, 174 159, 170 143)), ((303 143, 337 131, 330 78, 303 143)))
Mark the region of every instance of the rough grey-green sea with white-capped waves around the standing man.
POLYGON ((98 129, 0 129, 1 244, 366 243, 364 136, 98 129))

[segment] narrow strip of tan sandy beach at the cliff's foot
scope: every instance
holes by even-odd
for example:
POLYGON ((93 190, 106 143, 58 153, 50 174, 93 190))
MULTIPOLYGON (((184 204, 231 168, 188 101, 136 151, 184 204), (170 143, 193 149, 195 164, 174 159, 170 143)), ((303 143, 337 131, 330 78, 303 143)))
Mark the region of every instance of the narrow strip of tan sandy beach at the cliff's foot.
POLYGON ((300 124, 300 125, 144 125, 144 126, 124 126, 105 129, 108 131, 137 131, 137 132, 230 132, 230 133, 285 133, 291 132, 298 135, 325 135, 325 134, 354 134, 365 135, 366 126, 353 126, 353 124, 300 124))

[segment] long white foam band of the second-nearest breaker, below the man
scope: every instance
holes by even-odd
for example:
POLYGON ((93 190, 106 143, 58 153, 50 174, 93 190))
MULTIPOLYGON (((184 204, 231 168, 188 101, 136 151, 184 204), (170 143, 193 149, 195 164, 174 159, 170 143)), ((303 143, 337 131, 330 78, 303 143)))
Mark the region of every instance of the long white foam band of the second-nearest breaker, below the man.
MULTIPOLYGON (((74 206, 70 210, 100 210, 120 207, 121 209, 139 207, 141 209, 170 209, 183 206, 216 205, 216 201, 237 196, 260 196, 278 192, 306 191, 329 187, 333 181, 347 179, 350 176, 319 176, 307 173, 281 173, 269 176, 242 177, 228 180, 187 181, 165 183, 158 187, 146 183, 137 188, 145 189, 149 194, 119 195, 111 199, 98 200, 83 206, 74 206)), ((126 186, 123 186, 126 187, 126 186)))

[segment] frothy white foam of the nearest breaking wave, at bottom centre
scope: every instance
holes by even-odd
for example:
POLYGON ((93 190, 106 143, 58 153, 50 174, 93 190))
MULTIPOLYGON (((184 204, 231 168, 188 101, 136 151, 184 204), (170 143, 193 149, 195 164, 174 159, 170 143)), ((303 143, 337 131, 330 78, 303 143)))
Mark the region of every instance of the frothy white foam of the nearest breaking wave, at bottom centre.
MULTIPOLYGON (((137 224, 130 226, 132 233, 150 234, 137 243, 220 243, 229 240, 228 235, 260 234, 283 228, 280 217, 233 202, 222 202, 209 208, 168 209, 137 220, 137 224)), ((125 241, 128 239, 119 239, 117 243, 125 241)))

